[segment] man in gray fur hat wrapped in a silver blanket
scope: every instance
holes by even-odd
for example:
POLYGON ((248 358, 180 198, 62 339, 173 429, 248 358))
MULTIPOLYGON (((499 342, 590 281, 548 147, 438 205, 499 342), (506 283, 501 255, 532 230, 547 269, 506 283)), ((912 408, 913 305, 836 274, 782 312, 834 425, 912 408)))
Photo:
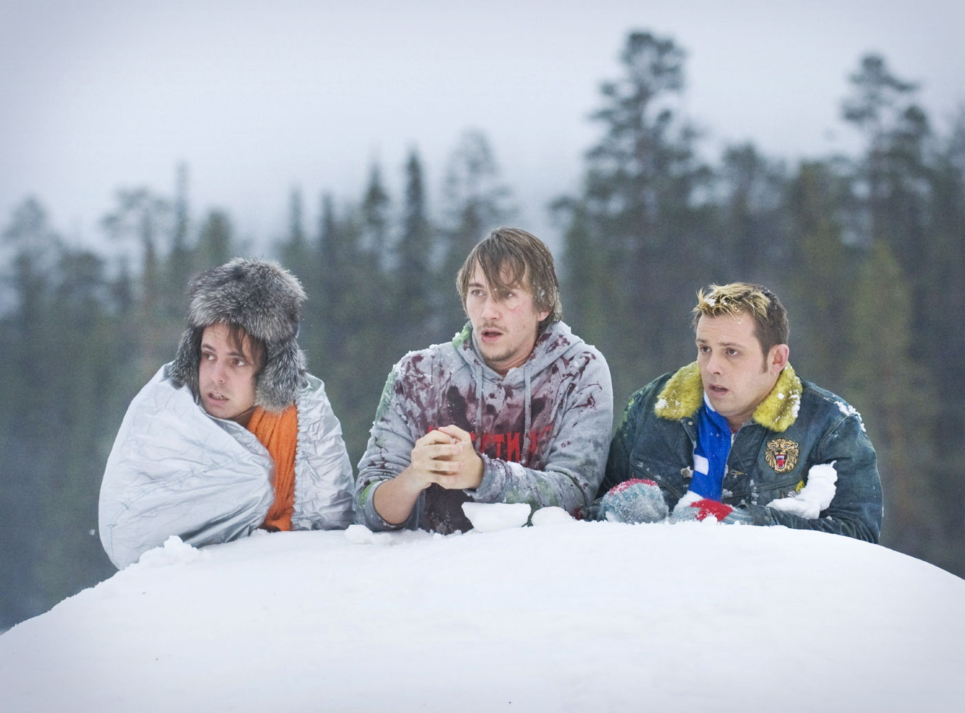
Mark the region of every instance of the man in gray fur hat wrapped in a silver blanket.
POLYGON ((200 546, 351 523, 342 427, 295 341, 304 300, 270 261, 238 258, 192 281, 178 354, 131 402, 107 459, 111 562, 171 535, 200 546))

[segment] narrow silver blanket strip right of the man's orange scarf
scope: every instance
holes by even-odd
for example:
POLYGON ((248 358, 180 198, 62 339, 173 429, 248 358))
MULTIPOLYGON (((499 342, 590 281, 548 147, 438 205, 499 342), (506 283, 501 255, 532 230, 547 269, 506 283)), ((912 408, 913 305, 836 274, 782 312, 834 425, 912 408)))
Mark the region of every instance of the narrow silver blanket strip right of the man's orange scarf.
POLYGON ((315 376, 298 398, 294 530, 340 530, 352 523, 352 465, 342 425, 315 376))

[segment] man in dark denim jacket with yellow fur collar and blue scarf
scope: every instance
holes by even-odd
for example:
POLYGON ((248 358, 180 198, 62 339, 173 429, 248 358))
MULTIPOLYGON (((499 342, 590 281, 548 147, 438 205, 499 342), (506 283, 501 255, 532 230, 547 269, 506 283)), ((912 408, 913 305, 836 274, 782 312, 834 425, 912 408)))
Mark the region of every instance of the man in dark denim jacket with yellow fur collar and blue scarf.
POLYGON ((711 285, 693 314, 697 361, 630 398, 593 515, 786 525, 877 542, 881 480, 865 425, 794 373, 777 296, 711 285))

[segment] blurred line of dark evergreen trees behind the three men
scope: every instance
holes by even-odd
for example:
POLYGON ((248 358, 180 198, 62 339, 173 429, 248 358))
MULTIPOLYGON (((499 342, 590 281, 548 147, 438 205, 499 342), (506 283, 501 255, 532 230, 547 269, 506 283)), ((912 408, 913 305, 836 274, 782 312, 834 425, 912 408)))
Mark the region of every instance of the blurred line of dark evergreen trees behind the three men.
MULTIPOLYGON (((746 144, 709 161, 679 109, 682 48, 635 32, 620 61, 580 187, 548 206, 559 233, 540 235, 562 246, 564 318, 606 355, 617 418, 632 391, 694 358, 698 288, 763 283, 786 303, 795 369, 864 417, 882 543, 965 575, 965 110, 936 131, 916 85, 869 55, 841 107, 858 155, 788 166, 746 144)), ((391 366, 452 338, 458 265, 513 217, 483 133, 463 135, 444 175, 433 202, 413 150, 400 196, 378 164, 353 201, 324 193, 306 210, 293 190, 275 236, 272 257, 309 294, 299 342, 353 462, 391 366)), ((120 191, 100 224, 108 255, 71 247, 34 198, 3 230, 0 629, 113 572, 96 507, 124 410, 173 358, 188 278, 248 250, 227 212, 192 214, 187 182, 182 167, 173 195, 120 191)))

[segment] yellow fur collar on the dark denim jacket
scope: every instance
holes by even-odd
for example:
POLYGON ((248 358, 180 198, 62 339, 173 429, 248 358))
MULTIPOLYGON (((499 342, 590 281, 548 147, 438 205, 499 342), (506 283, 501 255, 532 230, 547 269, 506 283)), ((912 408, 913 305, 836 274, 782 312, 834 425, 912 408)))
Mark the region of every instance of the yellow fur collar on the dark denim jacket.
MULTIPOLYGON (((801 379, 789 364, 778 382, 754 411, 753 419, 769 430, 781 433, 794 423, 801 405, 801 379)), ((697 413, 703 403, 703 381, 697 362, 688 364, 670 377, 657 397, 653 412, 661 419, 677 421, 697 413)))

